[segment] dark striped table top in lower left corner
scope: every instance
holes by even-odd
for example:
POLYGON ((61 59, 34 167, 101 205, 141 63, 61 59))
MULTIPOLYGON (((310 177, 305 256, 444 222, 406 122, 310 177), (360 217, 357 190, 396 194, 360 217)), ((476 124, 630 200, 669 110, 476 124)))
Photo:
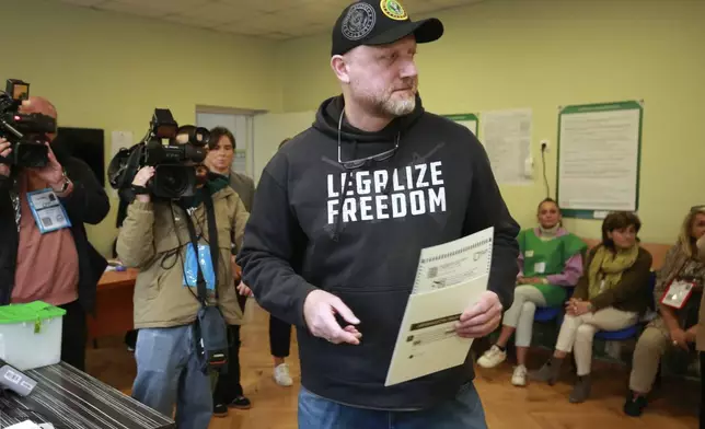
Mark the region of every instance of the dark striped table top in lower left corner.
POLYGON ((57 429, 170 429, 174 420, 67 363, 25 373, 37 382, 26 397, 0 397, 0 428, 32 420, 57 429))

